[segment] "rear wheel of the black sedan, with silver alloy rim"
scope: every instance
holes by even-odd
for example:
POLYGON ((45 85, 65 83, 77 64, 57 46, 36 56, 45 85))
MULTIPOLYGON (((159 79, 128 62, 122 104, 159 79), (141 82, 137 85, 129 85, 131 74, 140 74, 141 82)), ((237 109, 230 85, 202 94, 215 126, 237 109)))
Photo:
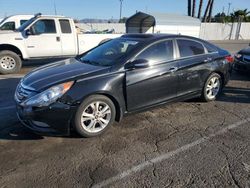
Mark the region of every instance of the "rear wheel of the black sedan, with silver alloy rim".
POLYGON ((201 99, 205 102, 214 101, 221 93, 222 84, 221 76, 217 73, 212 73, 203 86, 201 99))

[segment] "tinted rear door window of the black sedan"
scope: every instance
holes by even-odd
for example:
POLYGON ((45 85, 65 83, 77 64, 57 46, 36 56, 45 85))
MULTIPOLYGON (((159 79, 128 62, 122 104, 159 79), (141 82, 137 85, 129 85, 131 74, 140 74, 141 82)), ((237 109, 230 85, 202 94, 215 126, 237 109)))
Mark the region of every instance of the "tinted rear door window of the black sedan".
POLYGON ((193 40, 177 39, 180 57, 189 57, 205 53, 204 46, 193 40))

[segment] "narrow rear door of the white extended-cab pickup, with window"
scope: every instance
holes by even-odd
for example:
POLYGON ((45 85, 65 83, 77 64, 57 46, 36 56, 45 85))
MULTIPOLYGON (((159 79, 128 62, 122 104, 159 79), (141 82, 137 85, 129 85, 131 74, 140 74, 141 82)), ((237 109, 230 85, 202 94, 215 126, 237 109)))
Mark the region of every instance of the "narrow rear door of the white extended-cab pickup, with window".
POLYGON ((76 33, 73 33, 69 19, 59 19, 61 29, 62 54, 72 56, 77 54, 76 33))

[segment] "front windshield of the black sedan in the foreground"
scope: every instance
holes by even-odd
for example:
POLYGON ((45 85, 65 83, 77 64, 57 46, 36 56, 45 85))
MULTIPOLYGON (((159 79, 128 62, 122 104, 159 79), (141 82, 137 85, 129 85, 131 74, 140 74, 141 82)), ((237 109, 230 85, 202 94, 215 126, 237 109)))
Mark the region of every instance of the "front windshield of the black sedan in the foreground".
POLYGON ((112 66, 135 49, 139 43, 137 39, 113 39, 89 51, 79 60, 97 66, 112 66))

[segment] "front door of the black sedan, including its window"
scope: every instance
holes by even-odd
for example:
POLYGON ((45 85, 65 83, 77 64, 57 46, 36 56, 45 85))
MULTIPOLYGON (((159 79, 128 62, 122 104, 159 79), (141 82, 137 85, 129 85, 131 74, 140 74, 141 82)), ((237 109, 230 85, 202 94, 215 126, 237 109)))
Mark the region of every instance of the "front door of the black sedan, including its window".
POLYGON ((172 40, 152 44, 134 58, 146 60, 150 66, 126 71, 128 111, 151 106, 176 97, 178 63, 172 40))

